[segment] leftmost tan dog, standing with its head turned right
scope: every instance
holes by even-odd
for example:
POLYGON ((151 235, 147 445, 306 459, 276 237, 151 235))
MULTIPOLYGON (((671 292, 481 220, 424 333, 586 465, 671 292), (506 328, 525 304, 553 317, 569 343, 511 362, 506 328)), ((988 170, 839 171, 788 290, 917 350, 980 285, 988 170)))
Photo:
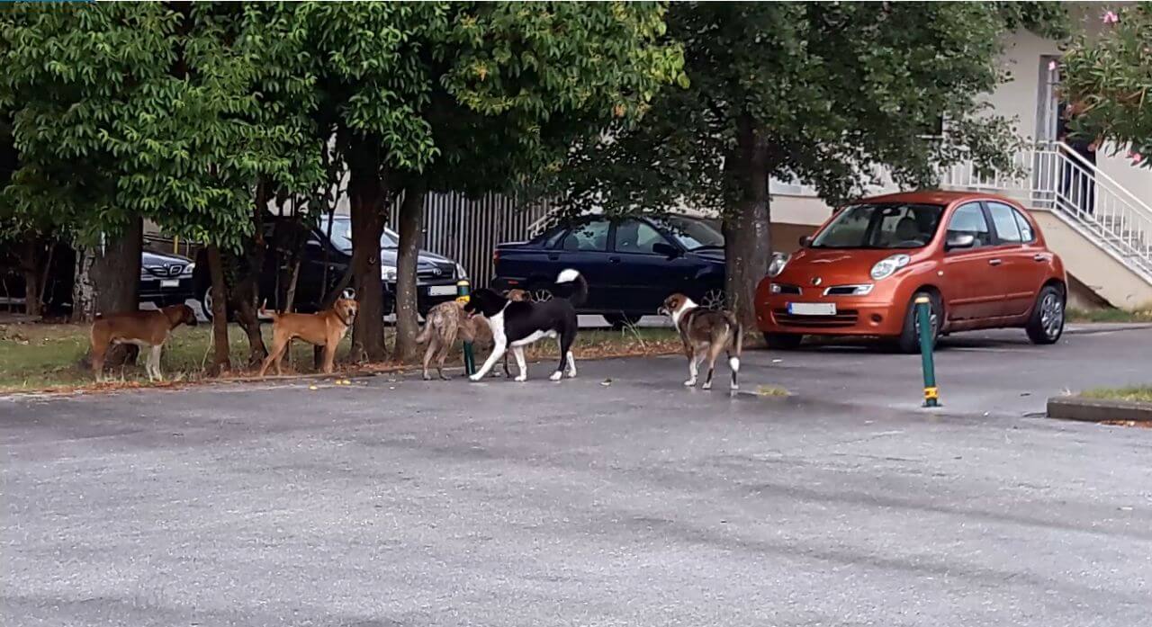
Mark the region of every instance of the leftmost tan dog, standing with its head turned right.
POLYGON ((160 351, 168 334, 181 324, 196 326, 196 314, 188 305, 169 305, 162 309, 124 312, 101 318, 92 323, 92 372, 104 381, 104 358, 115 344, 135 344, 151 349, 144 369, 149 381, 164 381, 160 373, 160 351))

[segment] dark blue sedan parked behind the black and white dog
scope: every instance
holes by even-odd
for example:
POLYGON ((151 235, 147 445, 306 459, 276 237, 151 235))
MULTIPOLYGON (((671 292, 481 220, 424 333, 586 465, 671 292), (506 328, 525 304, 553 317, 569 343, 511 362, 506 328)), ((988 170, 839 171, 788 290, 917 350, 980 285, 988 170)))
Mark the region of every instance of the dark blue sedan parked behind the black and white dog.
POLYGON ((723 301, 723 235, 682 215, 586 216, 529 242, 500 244, 493 262, 495 289, 524 289, 535 299, 551 297, 560 270, 579 270, 589 283, 581 313, 601 314, 614 326, 655 314, 675 292, 708 307, 723 301))

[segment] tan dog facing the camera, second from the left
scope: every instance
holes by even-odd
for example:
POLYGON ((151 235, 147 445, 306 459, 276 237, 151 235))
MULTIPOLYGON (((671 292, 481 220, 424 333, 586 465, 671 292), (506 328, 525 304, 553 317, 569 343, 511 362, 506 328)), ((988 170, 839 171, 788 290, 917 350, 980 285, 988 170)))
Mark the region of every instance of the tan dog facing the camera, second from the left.
POLYGON ((344 290, 332 304, 332 308, 314 314, 262 312, 272 316, 272 351, 260 365, 260 376, 264 376, 273 362, 276 365, 276 374, 281 374, 280 360, 283 359, 288 345, 296 338, 324 346, 323 369, 325 374, 332 374, 336 361, 336 346, 351 328, 357 311, 359 305, 356 303, 356 292, 344 290))

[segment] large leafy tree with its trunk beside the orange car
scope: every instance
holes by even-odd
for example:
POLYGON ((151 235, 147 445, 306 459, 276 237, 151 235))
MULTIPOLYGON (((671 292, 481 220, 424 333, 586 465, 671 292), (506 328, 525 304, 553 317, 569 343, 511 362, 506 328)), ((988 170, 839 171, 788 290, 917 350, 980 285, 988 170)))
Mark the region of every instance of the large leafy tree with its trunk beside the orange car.
POLYGON ((768 176, 835 202, 881 167, 911 186, 962 156, 1006 165, 1011 124, 982 94, 1001 78, 1001 36, 1063 10, 1037 5, 673 3, 685 89, 661 91, 636 129, 579 145, 552 189, 573 211, 720 212, 728 305, 751 327, 772 250, 768 176))

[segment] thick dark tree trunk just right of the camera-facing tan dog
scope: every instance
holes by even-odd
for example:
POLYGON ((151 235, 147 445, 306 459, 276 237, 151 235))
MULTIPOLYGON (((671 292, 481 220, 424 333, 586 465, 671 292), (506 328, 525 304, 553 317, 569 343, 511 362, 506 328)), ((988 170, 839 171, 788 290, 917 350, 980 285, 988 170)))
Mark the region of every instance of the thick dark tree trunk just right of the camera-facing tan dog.
MULTIPOLYGON (((358 142, 357 142, 358 143, 358 142)), ((353 225, 353 286, 359 312, 353 324, 353 361, 384 361, 384 285, 380 276, 380 235, 384 232, 385 186, 379 161, 370 148, 349 159, 348 183, 353 225)))

